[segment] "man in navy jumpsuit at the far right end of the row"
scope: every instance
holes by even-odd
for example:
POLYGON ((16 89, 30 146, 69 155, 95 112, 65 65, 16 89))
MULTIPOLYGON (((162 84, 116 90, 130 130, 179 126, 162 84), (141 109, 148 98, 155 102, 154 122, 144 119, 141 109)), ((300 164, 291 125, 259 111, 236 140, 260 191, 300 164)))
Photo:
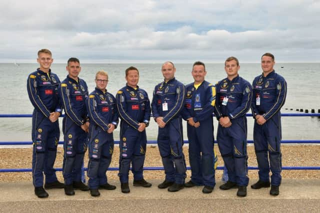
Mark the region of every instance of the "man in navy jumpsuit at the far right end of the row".
POLYGON ((286 82, 275 73, 274 56, 265 53, 261 57, 262 74, 255 77, 252 83, 253 98, 251 110, 254 121, 253 141, 256 160, 259 168, 259 180, 251 185, 252 189, 270 187, 269 172, 271 169, 270 195, 279 194, 281 184, 281 113, 280 109, 286 97, 286 82), (270 162, 268 161, 268 156, 270 162))

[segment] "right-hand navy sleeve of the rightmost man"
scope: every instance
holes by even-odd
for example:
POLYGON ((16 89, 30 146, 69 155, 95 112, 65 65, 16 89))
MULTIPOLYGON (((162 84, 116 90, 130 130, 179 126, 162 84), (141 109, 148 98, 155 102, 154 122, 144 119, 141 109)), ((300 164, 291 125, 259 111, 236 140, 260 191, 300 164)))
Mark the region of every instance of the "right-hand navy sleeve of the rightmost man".
POLYGON ((262 115, 265 120, 269 120, 275 113, 277 113, 281 109, 285 102, 285 97, 286 82, 283 78, 281 78, 276 84, 276 96, 274 104, 270 107, 269 110, 266 111, 266 113, 262 115))

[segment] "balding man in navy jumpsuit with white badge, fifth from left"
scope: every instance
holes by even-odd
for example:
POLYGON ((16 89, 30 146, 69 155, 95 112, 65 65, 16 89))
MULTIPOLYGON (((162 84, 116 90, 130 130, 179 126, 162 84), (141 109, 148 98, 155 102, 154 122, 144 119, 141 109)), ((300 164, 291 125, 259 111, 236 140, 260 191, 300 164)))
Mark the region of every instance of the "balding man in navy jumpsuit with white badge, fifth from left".
POLYGON ((181 118, 185 88, 175 79, 172 62, 163 63, 161 72, 164 81, 154 87, 151 103, 152 114, 159 127, 157 143, 165 173, 165 180, 158 188, 169 187, 169 192, 177 192, 184 188, 186 177, 181 118))

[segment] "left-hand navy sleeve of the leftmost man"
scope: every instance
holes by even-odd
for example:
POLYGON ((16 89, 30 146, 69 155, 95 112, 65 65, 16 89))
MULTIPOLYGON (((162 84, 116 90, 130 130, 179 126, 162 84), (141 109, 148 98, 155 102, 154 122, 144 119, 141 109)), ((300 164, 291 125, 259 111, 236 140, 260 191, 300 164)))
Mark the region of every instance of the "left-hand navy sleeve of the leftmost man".
POLYGON ((28 92, 28 96, 33 107, 39 112, 41 112, 45 117, 48 118, 50 116, 50 111, 46 108, 41 98, 39 97, 38 91, 36 89, 37 82, 35 79, 36 79, 36 75, 30 74, 28 76, 28 79, 26 82, 26 89, 28 92))

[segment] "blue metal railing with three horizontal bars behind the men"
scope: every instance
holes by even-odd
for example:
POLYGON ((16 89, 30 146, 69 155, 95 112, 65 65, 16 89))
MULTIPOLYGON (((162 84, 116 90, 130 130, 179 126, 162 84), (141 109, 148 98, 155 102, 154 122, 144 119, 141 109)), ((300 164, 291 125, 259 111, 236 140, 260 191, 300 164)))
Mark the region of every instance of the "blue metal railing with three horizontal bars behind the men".
MULTIPOLYGON (((64 115, 61 115, 63 117, 64 115)), ((252 114, 247 113, 247 117, 252 116, 252 114)), ((282 113, 282 117, 320 117, 320 113, 282 113)), ((0 118, 31 118, 31 114, 0 114, 0 118)), ((115 144, 119 144, 119 141, 114 141, 115 144)), ((184 141, 188 143, 188 141, 184 141)), ((216 143, 216 142, 215 142, 216 143)), ((253 143, 252 140, 248 140, 247 143, 253 143)), ((320 140, 282 140, 282 144, 289 143, 301 143, 301 144, 318 144, 320 140)), ((59 141, 58 144, 63 144, 63 141, 59 141)), ((147 141, 147 144, 157 144, 156 141, 147 141)), ((0 141, 1 145, 32 145, 29 141, 0 141)), ((186 169, 190 169, 187 167, 186 169)), ((223 170, 223 167, 217 167, 217 170, 223 170)), ((248 167, 249 170, 257 170, 257 167, 248 167)), ((62 171, 62 168, 55 168, 56 171, 62 171)), ((87 168, 84 168, 86 171, 87 168)), ((109 171, 117 171, 118 168, 108 168, 109 171)), ((163 167, 144 167, 143 170, 164 170, 163 167)), ((282 170, 320 170, 320 167, 282 167, 282 170)), ((31 168, 21 168, 21 169, 0 169, 0 172, 32 172, 31 168)))

